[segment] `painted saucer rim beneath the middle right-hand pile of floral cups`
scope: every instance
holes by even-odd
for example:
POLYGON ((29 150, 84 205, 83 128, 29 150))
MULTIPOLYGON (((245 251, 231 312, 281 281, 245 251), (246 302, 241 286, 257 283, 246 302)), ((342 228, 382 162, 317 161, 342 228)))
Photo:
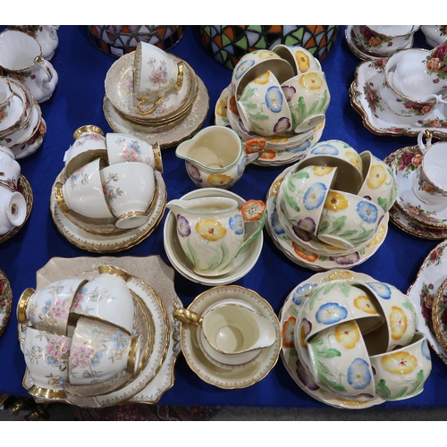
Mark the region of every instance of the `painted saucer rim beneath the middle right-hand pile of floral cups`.
MULTIPOLYGON (((291 168, 289 168, 291 169, 291 168)), ((333 257, 327 255, 318 255, 317 253, 308 250, 306 247, 297 243, 286 234, 283 226, 279 221, 276 211, 276 196, 279 189, 279 184, 283 181, 287 169, 280 173, 272 186, 267 192, 266 197, 266 231, 274 241, 274 245, 283 251, 284 255, 291 259, 292 262, 310 268, 315 271, 324 271, 331 268, 351 268, 358 266, 365 262, 369 257, 372 257, 375 252, 381 247, 388 232, 389 215, 386 213, 384 219, 380 224, 379 230, 375 239, 371 240, 364 249, 350 253, 349 255, 334 255, 333 257)))

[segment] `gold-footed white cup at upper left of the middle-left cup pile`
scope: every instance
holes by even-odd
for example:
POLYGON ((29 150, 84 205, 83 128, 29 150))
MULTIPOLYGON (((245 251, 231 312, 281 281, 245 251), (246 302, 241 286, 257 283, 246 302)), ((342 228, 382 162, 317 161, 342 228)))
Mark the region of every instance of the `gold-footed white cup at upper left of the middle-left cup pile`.
POLYGON ((104 134, 96 126, 82 126, 74 132, 74 136, 76 138, 72 146, 63 156, 67 177, 98 156, 107 156, 104 134), (86 127, 89 127, 89 130, 85 129, 86 127), (93 128, 90 130, 91 127, 93 128))

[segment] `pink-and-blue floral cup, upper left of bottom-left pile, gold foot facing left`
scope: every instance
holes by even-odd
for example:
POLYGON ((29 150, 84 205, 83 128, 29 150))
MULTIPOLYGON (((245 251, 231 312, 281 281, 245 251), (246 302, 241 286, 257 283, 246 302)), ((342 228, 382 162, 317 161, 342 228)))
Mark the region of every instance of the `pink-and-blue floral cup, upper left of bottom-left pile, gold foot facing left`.
POLYGON ((17 304, 17 320, 39 331, 68 335, 68 319, 72 301, 87 280, 67 278, 34 291, 22 292, 17 304))

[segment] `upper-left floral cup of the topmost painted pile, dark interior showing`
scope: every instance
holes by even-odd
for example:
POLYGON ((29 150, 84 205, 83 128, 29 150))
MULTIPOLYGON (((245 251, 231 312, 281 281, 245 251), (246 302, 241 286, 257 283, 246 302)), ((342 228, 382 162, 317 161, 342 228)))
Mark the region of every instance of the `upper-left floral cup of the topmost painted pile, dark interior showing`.
POLYGON ((255 80, 267 71, 273 72, 280 84, 294 75, 291 63, 273 51, 255 50, 243 55, 232 71, 232 91, 236 99, 240 98, 242 91, 251 80, 255 80))

